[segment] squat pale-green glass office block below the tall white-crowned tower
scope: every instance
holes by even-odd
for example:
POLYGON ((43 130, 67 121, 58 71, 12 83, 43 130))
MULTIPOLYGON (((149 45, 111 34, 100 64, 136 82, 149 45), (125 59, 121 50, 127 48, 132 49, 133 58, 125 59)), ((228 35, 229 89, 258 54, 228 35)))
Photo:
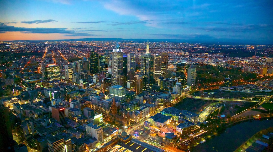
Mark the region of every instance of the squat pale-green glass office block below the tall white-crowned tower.
POLYGON ((115 101, 119 101, 121 103, 126 100, 126 89, 123 86, 115 85, 109 88, 110 99, 115 98, 115 101))

